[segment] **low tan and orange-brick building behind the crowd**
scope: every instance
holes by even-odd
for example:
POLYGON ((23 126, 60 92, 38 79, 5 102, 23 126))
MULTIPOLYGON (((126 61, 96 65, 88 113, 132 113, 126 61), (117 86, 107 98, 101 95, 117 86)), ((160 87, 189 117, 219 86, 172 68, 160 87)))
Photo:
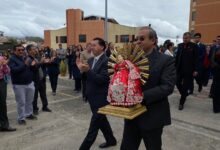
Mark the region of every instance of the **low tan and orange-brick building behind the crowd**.
MULTIPOLYGON (((84 17, 80 9, 66 10, 66 27, 57 30, 44 31, 44 46, 58 48, 62 43, 66 48, 70 45, 85 46, 95 37, 104 38, 105 18, 99 16, 84 17)), ((122 46, 133 41, 138 27, 129 27, 118 24, 114 19, 108 19, 108 42, 122 46)))

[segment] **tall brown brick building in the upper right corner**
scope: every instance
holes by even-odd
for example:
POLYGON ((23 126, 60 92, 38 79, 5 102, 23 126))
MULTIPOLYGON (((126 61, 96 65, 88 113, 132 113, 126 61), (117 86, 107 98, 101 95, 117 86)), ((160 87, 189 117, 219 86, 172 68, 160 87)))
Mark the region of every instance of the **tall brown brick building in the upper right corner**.
POLYGON ((189 31, 200 32, 204 43, 220 35, 220 0, 191 0, 189 31))

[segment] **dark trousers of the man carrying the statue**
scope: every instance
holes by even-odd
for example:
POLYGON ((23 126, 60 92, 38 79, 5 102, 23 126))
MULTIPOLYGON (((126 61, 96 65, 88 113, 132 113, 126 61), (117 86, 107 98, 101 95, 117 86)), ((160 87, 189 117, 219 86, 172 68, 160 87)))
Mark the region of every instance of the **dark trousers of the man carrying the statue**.
POLYGON ((141 140, 147 150, 161 150, 163 128, 143 130, 134 122, 125 122, 121 150, 138 150, 141 140))

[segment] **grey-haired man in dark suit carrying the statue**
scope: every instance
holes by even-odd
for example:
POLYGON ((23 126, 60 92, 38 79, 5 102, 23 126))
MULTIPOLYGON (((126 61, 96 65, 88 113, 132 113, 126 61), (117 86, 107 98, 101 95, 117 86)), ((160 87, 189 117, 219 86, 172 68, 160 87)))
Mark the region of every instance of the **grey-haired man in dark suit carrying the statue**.
POLYGON ((137 44, 149 60, 150 76, 142 86, 143 102, 147 111, 133 120, 125 120, 121 150, 138 150, 144 140, 147 150, 161 150, 162 132, 171 124, 168 95, 173 92, 176 70, 172 57, 157 51, 157 34, 151 27, 142 27, 137 44))

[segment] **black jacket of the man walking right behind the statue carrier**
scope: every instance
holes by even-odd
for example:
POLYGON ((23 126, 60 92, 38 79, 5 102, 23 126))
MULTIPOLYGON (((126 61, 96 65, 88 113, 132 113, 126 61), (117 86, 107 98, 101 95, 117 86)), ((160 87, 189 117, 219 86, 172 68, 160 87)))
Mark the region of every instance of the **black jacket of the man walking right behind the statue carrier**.
POLYGON ((186 48, 184 48, 184 43, 181 43, 178 45, 178 51, 176 55, 176 70, 177 73, 184 73, 184 74, 190 74, 194 71, 199 70, 199 64, 198 64, 198 46, 195 43, 189 42, 186 44, 186 48), (187 52, 186 52, 187 51, 187 52), (187 57, 184 58, 183 53, 186 52, 187 57), (187 64, 183 64, 183 59, 185 59, 185 62, 187 64))

